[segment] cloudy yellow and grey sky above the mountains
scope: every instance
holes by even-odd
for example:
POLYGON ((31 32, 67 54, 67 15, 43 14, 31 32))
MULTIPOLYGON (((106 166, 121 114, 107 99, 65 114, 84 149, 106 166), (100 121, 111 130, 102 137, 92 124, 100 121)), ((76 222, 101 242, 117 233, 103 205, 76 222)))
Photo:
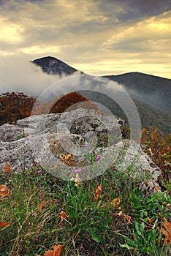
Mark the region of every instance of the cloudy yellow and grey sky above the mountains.
POLYGON ((170 0, 0 0, 0 72, 10 76, 10 61, 14 73, 23 60, 54 56, 89 75, 171 78, 170 7, 170 0))

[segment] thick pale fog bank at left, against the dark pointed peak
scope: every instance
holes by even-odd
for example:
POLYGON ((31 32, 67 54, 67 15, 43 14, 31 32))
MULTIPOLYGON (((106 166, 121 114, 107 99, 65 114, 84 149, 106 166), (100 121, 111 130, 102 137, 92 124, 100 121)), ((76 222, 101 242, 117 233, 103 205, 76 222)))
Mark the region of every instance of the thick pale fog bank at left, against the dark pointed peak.
POLYGON ((0 62, 0 94, 23 91, 30 96, 38 96, 48 86, 61 78, 47 75, 40 67, 30 63, 26 56, 4 57, 0 62))

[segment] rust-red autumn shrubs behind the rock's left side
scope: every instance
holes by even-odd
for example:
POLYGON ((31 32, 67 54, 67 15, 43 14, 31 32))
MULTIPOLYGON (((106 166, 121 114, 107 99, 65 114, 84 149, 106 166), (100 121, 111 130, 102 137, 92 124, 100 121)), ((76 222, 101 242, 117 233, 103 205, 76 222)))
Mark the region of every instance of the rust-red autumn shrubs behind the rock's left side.
POLYGON ((63 113, 66 110, 73 110, 78 107, 98 110, 93 102, 90 102, 76 91, 61 96, 53 102, 42 104, 34 97, 29 97, 23 92, 7 92, 0 95, 0 125, 15 124, 18 119, 30 115, 63 113))

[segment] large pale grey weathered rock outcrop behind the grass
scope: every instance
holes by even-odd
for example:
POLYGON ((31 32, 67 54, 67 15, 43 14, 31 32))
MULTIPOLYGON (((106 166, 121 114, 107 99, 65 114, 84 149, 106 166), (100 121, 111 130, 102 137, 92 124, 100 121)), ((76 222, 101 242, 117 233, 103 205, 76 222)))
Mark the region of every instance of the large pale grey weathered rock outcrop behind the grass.
POLYGON ((4 124, 0 127, 0 171, 7 163, 16 173, 36 165, 70 180, 81 169, 80 178, 88 180, 114 165, 121 175, 129 172, 142 191, 156 192, 161 171, 139 144, 123 140, 122 127, 120 118, 82 108, 4 124), (96 156, 101 156, 99 161, 96 156))

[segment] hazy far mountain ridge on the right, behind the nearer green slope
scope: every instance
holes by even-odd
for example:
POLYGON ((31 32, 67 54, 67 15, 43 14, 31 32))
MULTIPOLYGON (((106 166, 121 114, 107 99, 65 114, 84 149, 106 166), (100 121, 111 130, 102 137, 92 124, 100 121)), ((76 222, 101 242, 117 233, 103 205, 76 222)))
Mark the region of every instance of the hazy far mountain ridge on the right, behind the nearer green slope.
POLYGON ((140 72, 105 75, 124 86, 131 97, 171 114, 171 80, 140 72))

